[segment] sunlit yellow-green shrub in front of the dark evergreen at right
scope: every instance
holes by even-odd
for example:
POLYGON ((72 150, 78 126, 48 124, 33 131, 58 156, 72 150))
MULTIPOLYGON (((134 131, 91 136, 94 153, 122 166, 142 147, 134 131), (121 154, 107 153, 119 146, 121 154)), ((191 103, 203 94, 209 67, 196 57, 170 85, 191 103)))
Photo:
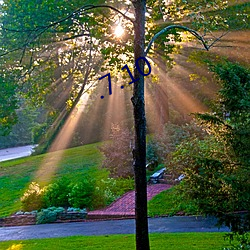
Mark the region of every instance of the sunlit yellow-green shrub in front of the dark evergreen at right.
POLYGON ((178 147, 168 166, 174 178, 185 174, 179 192, 208 214, 241 209, 238 194, 232 189, 234 174, 232 169, 224 168, 223 159, 223 145, 215 138, 194 138, 178 147))

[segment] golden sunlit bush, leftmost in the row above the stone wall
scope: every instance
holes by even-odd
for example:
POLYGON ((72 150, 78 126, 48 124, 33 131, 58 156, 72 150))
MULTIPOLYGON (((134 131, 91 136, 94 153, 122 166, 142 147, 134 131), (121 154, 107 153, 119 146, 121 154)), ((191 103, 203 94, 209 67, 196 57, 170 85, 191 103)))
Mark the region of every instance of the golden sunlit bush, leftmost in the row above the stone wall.
POLYGON ((24 211, 39 210, 43 207, 44 188, 41 188, 38 183, 32 182, 28 190, 21 197, 22 209, 24 211))

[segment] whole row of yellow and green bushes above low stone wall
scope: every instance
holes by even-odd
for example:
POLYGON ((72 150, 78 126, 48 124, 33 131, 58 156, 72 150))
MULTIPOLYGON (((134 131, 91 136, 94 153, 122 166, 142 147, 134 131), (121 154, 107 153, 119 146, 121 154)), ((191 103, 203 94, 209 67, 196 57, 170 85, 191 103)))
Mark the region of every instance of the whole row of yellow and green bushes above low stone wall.
POLYGON ((113 179, 102 175, 97 178, 86 174, 84 178, 70 181, 62 177, 42 189, 37 183, 31 183, 21 199, 23 210, 69 206, 78 209, 97 209, 109 205, 124 193, 134 189, 132 178, 113 179))

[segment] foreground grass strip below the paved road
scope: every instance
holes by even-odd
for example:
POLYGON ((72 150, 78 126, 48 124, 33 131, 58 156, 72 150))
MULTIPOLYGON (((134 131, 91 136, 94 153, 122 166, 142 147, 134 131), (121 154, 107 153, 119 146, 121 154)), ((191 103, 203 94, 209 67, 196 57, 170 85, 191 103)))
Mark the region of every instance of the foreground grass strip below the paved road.
MULTIPOLYGON (((224 233, 151 234, 151 250, 221 250, 228 246, 224 233)), ((67 238, 0 242, 2 250, 135 249, 134 235, 74 236, 67 238)))

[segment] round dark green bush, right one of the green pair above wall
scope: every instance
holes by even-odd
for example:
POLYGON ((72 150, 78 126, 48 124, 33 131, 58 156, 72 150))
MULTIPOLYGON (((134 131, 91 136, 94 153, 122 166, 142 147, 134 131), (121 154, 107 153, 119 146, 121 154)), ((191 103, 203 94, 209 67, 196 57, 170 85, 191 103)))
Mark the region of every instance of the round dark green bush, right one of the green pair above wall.
POLYGON ((85 208, 92 206, 92 196, 94 193, 93 182, 87 179, 72 186, 69 193, 69 204, 73 207, 85 208))

